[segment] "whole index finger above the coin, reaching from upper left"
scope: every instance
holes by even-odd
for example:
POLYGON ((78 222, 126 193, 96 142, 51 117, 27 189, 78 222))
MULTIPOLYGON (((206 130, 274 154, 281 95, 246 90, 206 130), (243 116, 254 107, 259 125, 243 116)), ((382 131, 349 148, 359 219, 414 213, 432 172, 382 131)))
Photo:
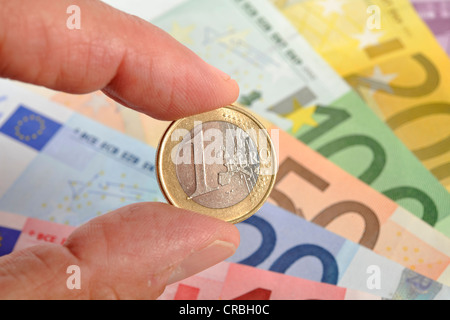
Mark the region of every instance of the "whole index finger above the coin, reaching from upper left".
POLYGON ((100 1, 0 0, 0 76, 69 93, 103 90, 169 120, 234 102, 237 83, 152 24, 100 1))

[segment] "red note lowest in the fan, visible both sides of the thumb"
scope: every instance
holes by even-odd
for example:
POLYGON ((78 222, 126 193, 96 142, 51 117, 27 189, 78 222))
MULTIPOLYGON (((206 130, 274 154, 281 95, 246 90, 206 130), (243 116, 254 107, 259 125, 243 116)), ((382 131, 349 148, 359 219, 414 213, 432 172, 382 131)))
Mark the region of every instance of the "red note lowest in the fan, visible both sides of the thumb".
MULTIPOLYGON (((62 245, 76 227, 0 211, 0 256, 62 245)), ((82 281, 82 279, 80 279, 82 281)), ((379 300, 380 297, 231 262, 166 287, 160 300, 379 300)))

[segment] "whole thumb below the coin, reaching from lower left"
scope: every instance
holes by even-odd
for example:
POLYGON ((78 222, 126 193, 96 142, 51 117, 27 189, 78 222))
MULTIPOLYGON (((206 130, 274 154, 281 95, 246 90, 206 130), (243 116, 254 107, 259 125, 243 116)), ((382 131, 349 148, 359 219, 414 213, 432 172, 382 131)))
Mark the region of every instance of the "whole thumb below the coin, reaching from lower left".
POLYGON ((2 299, 156 299, 167 284, 234 254, 232 224, 162 203, 138 203, 76 229, 64 246, 0 258, 2 299), (79 266, 80 289, 67 268, 79 266))

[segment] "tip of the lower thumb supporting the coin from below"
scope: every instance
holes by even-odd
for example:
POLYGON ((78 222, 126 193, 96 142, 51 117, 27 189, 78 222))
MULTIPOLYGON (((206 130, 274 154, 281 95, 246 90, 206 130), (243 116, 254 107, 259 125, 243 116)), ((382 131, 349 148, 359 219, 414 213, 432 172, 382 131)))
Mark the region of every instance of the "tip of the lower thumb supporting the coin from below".
POLYGON ((65 246, 89 270, 89 296, 154 299, 168 284, 232 256, 239 240, 233 224, 144 202, 92 219, 65 246))

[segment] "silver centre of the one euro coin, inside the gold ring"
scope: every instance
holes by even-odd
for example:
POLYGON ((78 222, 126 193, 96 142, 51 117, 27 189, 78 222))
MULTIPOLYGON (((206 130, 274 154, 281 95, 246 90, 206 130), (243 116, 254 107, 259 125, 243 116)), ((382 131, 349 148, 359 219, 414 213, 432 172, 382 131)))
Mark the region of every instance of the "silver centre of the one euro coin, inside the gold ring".
POLYGON ((178 181, 189 199, 212 209, 231 207, 252 191, 259 175, 255 142, 225 121, 197 124, 178 145, 178 181))

